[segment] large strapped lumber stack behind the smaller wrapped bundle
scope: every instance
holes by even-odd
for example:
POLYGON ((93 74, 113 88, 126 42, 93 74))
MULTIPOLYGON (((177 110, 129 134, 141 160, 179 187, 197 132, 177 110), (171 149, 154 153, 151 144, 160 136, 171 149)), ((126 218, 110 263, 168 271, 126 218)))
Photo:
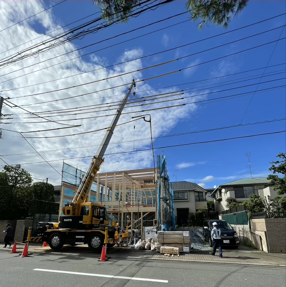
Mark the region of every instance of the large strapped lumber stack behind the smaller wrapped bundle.
POLYGON ((190 252, 189 231, 158 231, 157 242, 161 243, 162 247, 178 248, 180 253, 190 252))

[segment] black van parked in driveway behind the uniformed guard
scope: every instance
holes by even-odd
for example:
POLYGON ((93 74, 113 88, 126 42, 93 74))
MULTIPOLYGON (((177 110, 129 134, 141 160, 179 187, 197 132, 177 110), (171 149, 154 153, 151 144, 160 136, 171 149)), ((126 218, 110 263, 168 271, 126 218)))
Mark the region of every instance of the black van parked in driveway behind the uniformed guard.
POLYGON ((207 219, 203 223, 203 234, 205 241, 209 243, 210 247, 213 245, 211 241, 211 230, 213 229, 213 222, 217 222, 217 226, 221 230, 222 246, 231 246, 235 248, 240 246, 236 231, 227 221, 220 219, 207 219))

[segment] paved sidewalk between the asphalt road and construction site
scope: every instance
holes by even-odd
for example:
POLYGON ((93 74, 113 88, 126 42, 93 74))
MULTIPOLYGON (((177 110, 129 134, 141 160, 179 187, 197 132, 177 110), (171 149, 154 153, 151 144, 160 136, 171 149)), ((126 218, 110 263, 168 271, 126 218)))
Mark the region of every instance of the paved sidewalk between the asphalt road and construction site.
MULTIPOLYGON (((17 251, 22 253, 24 245, 17 245, 17 251)), ((1 248, 0 251, 11 252, 11 248, 1 248)), ((71 247, 64 246, 61 250, 55 251, 50 247, 41 247, 38 244, 30 244, 30 253, 44 253, 44 254, 58 254, 75 256, 94 256, 87 246, 81 245, 71 247)), ((278 253, 263 253, 259 250, 241 247, 241 249, 226 249, 223 250, 223 258, 219 258, 218 251, 215 256, 209 254, 209 251, 191 250, 190 253, 180 253, 179 256, 172 255, 164 256, 157 251, 138 250, 131 247, 113 247, 107 250, 112 258, 134 258, 134 259, 148 259, 148 260, 166 260, 166 261, 188 261, 188 262, 204 262, 204 263, 229 263, 229 264, 243 264, 243 265, 267 265, 267 266, 286 266, 286 254, 278 253)), ((96 254, 98 257, 98 254, 96 254)))

